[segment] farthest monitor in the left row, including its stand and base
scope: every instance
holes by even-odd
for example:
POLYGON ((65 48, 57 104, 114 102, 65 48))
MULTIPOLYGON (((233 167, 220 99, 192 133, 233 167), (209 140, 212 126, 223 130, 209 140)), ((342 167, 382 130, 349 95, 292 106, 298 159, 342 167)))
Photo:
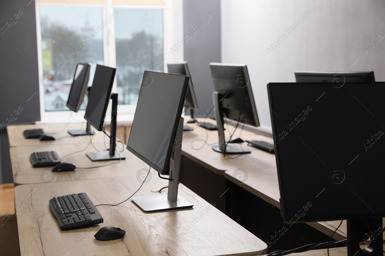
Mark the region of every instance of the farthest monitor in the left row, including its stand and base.
MULTIPOLYGON (((90 78, 90 68, 90 63, 78 63, 76 65, 74 80, 72 81, 70 94, 67 100, 67 107, 75 113, 79 111, 85 92, 87 91, 88 81, 90 78)), ((95 132, 91 130, 89 122, 87 122, 86 129, 68 130, 68 133, 72 136, 95 134, 95 132)))

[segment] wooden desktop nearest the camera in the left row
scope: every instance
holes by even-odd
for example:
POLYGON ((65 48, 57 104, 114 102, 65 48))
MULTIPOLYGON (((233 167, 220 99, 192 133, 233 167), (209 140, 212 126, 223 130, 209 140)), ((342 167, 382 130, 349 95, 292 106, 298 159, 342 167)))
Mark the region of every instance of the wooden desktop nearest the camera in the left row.
MULTIPOLYGON (((151 189, 167 185, 152 172, 152 180, 136 193, 150 195, 151 189)), ((179 194, 194 203, 193 209, 145 213, 131 200, 120 206, 98 206, 104 223, 91 228, 61 231, 50 212, 49 199, 86 192, 99 203, 123 201, 140 183, 135 177, 105 178, 28 184, 15 187, 21 255, 258 255, 267 245, 184 185, 179 194), (129 192, 131 191, 131 192, 129 192), (129 192, 129 193, 128 193, 129 192), (114 209, 114 210, 112 210, 114 209), (122 239, 98 241, 102 226, 126 230, 122 239)), ((166 195, 165 195, 166 196, 166 195)))

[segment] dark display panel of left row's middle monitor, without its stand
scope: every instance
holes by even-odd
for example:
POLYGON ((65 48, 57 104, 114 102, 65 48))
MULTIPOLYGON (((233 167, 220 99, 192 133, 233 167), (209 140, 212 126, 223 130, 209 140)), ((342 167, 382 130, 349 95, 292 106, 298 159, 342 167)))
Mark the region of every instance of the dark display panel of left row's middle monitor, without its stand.
POLYGON ((97 130, 102 130, 105 112, 110 100, 116 68, 97 65, 88 97, 84 118, 97 130))

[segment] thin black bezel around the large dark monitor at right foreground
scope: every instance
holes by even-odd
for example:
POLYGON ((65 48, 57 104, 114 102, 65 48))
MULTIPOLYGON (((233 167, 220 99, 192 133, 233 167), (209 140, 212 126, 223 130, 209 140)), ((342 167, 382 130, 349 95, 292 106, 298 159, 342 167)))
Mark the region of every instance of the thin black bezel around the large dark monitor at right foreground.
MULTIPOLYGON (((357 84, 357 83, 365 83, 365 84, 379 84, 382 83, 385 86, 385 82, 346 82, 344 85, 349 86, 349 84, 357 84)), ((275 86, 276 84, 285 84, 286 86, 295 86, 300 84, 306 84, 309 86, 312 85, 318 85, 318 84, 325 84, 325 86, 330 86, 330 83, 268 83, 267 86, 267 92, 268 92, 268 99, 269 99, 269 109, 270 109, 270 119, 271 119, 271 128, 273 131, 273 139, 276 138, 278 135, 275 130, 275 120, 276 115, 273 113, 273 100, 271 99, 271 86, 275 86)), ((280 169, 281 162, 280 162, 280 150, 279 147, 275 147, 275 160, 276 160, 276 168, 277 168, 277 175, 278 175, 278 186, 280 188, 280 208, 281 208, 281 216, 283 218, 283 221, 290 221, 291 219, 286 219, 286 209, 285 205, 287 201, 285 200, 285 195, 283 193, 283 181, 282 181, 282 172, 280 169)), ((323 216, 312 216, 312 218, 308 219, 308 217, 304 218, 301 217, 298 220, 296 220, 296 223, 305 223, 305 222, 314 222, 314 221, 333 221, 333 220, 346 220, 351 218, 375 218, 375 217, 383 217, 385 216, 385 212, 383 213, 375 213, 375 214, 346 214, 346 215, 333 215, 328 216, 327 218, 323 216)))

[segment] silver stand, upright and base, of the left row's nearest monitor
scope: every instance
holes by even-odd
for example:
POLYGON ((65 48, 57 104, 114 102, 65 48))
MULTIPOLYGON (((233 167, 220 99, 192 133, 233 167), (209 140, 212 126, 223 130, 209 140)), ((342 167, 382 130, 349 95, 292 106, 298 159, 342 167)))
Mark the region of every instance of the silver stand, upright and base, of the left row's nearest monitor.
POLYGON ((178 195, 179 172, 181 169, 181 152, 183 136, 183 117, 179 120, 179 126, 176 133, 176 141, 170 159, 170 170, 168 193, 156 193, 142 197, 134 197, 132 201, 143 211, 166 211, 174 209, 191 208, 194 206, 186 198, 178 195), (178 142, 178 143, 177 143, 178 142))

